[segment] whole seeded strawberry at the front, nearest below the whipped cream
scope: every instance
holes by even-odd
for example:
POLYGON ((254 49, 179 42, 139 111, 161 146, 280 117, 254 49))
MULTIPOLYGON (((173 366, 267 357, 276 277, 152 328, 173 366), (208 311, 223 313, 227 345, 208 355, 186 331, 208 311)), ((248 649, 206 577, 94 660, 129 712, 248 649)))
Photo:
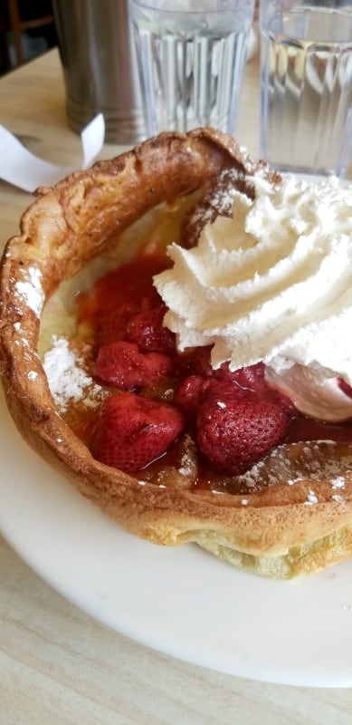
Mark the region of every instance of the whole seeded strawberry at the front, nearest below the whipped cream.
POLYGON ((270 393, 211 385, 197 412, 197 441, 216 468, 234 475, 278 445, 289 422, 290 416, 270 393))

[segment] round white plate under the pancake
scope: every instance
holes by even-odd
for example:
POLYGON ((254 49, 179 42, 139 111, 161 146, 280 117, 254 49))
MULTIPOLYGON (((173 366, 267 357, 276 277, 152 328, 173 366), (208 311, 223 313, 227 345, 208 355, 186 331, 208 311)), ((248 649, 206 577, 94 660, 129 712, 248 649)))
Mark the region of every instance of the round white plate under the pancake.
POLYGON ((352 562, 294 582, 197 546, 130 536, 27 447, 0 400, 0 528, 54 589, 114 630, 187 662, 292 685, 352 684, 352 562))

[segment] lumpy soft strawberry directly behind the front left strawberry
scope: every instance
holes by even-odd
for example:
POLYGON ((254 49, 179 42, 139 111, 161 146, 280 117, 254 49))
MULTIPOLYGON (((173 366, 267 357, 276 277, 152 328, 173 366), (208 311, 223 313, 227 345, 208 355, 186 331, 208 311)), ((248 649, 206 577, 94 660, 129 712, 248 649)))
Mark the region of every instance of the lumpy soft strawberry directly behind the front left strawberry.
POLYGON ((121 390, 153 388, 172 370, 171 359, 162 353, 139 353, 136 343, 118 341, 100 347, 93 375, 121 390))

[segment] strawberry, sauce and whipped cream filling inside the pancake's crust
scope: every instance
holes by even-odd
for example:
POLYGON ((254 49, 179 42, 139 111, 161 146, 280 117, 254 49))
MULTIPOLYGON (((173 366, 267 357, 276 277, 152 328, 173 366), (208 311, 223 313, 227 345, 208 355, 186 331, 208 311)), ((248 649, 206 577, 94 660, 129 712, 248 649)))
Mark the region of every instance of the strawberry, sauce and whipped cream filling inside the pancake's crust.
POLYGON ((338 499, 352 466, 351 191, 253 183, 254 200, 228 186, 213 222, 200 202, 177 243, 156 225, 86 285, 43 366, 94 458, 141 482, 245 506, 246 492, 314 474, 338 499))

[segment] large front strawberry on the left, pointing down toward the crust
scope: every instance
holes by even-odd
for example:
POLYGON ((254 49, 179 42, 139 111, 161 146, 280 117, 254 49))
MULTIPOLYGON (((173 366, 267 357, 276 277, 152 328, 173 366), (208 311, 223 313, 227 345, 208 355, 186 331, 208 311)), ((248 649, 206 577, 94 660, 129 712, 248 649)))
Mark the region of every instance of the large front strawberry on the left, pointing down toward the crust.
POLYGON ((183 427, 173 406, 122 392, 101 403, 90 450, 107 466, 133 473, 162 456, 183 427))

